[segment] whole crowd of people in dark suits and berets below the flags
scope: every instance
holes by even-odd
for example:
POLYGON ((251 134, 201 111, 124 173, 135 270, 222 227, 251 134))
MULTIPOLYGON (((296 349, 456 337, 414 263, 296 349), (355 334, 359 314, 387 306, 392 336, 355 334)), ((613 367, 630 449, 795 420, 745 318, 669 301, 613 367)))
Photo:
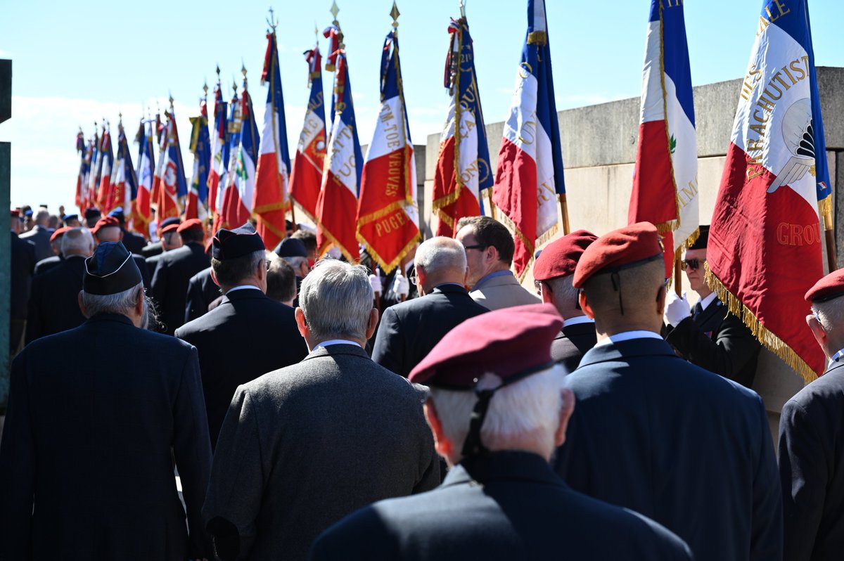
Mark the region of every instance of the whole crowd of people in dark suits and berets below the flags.
POLYGON ((12 211, 0 560, 844 551, 844 271, 794 318, 830 366, 777 458, 705 226, 694 306, 649 223, 550 242, 533 290, 483 216, 386 276, 294 224, 150 238, 121 208, 12 211))

